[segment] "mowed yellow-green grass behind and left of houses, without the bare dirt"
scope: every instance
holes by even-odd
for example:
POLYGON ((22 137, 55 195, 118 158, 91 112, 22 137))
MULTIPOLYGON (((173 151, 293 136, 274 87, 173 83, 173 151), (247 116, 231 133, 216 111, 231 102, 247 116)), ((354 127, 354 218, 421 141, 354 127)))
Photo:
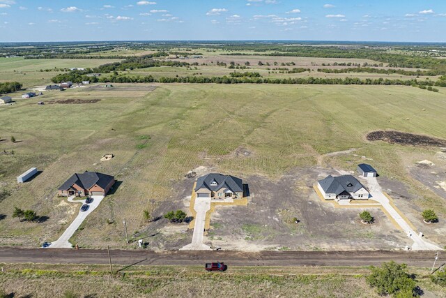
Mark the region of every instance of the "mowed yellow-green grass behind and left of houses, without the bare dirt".
MULTIPOLYGON (((443 90, 158 84, 149 91, 143 84, 116 86, 56 91, 0 107, 0 152, 9 153, 0 154, 0 188, 13 193, 0 202, 0 214, 6 215, 0 220, 0 244, 35 246, 56 239, 77 213, 77 207, 56 198, 57 188, 74 172, 96 170, 122 182, 75 237, 84 246, 121 247, 123 218, 130 234, 143 228, 142 210, 155 212, 162 202, 178 200, 180 181, 201 165, 274 180, 293 167, 316 166, 322 154, 357 148, 359 156, 374 159, 381 174, 403 179, 399 154, 413 149, 367 142, 367 132, 395 129, 446 136, 443 90), (101 100, 36 105, 37 100, 68 98, 101 100), (10 142, 11 135, 20 142, 10 142), (251 154, 235 154, 239 148, 251 154), (108 153, 116 157, 101 163, 108 153), (17 185, 15 177, 33 166, 43 173, 17 185), (49 218, 19 223, 11 217, 15 206, 49 218)), ((351 161, 333 162, 355 169, 351 161)))

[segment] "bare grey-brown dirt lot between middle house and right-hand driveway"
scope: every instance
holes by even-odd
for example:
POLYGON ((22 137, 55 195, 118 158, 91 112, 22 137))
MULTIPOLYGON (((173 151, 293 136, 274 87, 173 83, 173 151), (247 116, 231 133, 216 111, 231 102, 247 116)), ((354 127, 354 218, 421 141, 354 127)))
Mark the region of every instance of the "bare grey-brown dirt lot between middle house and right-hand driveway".
MULTIPOLYGON (((312 182, 327 174, 336 172, 298 168, 279 181, 261 176, 245 178, 252 193, 248 206, 218 206, 205 243, 241 251, 377 250, 408 244, 380 209, 369 209, 376 223, 362 225, 358 216, 362 209, 337 209, 321 202, 312 182), (294 217, 298 224, 292 222, 294 217)), ((191 183, 184 184, 189 191, 191 183)), ((176 248, 174 242, 171 244, 176 248)))

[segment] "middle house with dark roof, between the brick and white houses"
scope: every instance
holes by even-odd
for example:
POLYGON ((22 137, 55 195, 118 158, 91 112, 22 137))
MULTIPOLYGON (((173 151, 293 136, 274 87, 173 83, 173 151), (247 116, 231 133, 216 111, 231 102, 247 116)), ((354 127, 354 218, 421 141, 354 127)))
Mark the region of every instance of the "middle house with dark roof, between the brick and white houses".
POLYGON ((197 198, 228 200, 243 198, 243 181, 231 175, 210 173, 197 179, 197 198))

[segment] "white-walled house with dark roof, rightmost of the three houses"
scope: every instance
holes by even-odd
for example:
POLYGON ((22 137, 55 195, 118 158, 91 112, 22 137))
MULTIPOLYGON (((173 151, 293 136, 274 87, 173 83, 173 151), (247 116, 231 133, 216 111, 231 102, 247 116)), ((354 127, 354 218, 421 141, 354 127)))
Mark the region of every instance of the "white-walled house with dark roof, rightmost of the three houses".
POLYGON ((318 189, 325 200, 337 200, 345 202, 350 200, 368 200, 370 193, 352 175, 333 177, 328 175, 325 179, 318 181, 318 189))

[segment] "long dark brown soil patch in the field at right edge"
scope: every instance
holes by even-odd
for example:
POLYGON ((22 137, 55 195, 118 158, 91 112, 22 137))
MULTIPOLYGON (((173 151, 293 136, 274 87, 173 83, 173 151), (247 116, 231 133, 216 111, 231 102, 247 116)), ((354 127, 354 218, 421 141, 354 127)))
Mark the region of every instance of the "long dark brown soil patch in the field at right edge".
POLYGON ((372 131, 367 135, 367 140, 413 146, 446 146, 446 140, 401 131, 372 131))

